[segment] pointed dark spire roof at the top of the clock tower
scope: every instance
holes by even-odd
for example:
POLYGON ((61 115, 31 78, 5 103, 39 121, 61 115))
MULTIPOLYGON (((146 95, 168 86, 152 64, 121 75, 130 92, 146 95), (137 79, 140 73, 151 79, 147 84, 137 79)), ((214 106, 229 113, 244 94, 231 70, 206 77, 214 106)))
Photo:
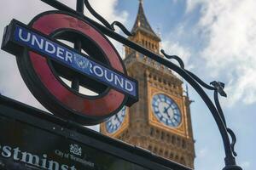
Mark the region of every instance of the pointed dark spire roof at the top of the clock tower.
POLYGON ((137 30, 141 30, 141 31, 147 32, 148 34, 157 38, 160 41, 160 37, 158 37, 154 33, 153 29, 149 25, 148 20, 145 16, 144 9, 143 9, 143 1, 139 0, 139 2, 140 3, 139 3, 138 12, 137 12, 137 18, 131 32, 136 32, 137 30))

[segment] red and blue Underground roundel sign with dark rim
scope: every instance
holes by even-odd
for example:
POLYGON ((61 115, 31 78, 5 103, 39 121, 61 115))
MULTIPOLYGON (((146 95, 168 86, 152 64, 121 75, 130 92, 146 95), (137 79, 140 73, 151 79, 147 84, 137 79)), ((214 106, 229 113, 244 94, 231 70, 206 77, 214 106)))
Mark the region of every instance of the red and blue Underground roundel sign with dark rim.
POLYGON ((16 55, 21 76, 32 94, 55 115, 84 125, 96 124, 137 101, 137 81, 107 37, 73 14, 49 11, 28 26, 12 20, 5 29, 3 50, 16 55), (80 42, 84 53, 63 43, 80 42), (61 79, 79 79, 88 96, 61 79))

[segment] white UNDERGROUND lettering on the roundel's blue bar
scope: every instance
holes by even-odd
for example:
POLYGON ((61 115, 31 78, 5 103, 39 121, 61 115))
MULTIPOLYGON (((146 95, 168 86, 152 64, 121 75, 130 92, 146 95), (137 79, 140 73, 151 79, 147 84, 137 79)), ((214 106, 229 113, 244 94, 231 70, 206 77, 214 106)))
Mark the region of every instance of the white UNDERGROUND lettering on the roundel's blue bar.
MULTIPOLYGON (((63 60, 62 62, 66 62, 70 64, 73 63, 74 56, 73 56, 72 50, 62 47, 58 43, 51 42, 48 39, 44 39, 43 37, 40 37, 36 33, 26 32, 21 28, 19 28, 19 30, 17 31, 19 31, 20 40, 22 40, 23 42, 31 42, 30 44, 31 48, 34 48, 34 49, 40 48, 41 49, 40 52, 43 52, 44 54, 49 55, 49 57, 53 59, 58 58, 58 59, 62 59, 63 60)), ((85 71, 85 68, 86 68, 86 71, 88 71, 89 69, 89 74, 91 76, 94 76, 95 78, 98 78, 98 79, 99 77, 104 78, 103 81, 108 82, 109 86, 114 86, 119 89, 122 88, 126 92, 133 92, 133 90, 136 88, 134 87, 134 84, 131 81, 126 80, 126 78, 123 77, 122 75, 119 75, 118 72, 109 71, 104 66, 97 65, 93 61, 89 61, 87 59, 84 59, 81 61, 79 60, 78 65, 80 65, 81 68, 83 67, 84 71, 85 71)), ((88 72, 86 71, 84 73, 88 74, 88 72)), ((18 159, 19 150, 17 150, 15 153, 18 159)), ((7 153, 5 152, 3 152, 3 154, 7 155, 7 153)), ((58 152, 56 153, 56 155, 64 157, 64 153, 58 152)))

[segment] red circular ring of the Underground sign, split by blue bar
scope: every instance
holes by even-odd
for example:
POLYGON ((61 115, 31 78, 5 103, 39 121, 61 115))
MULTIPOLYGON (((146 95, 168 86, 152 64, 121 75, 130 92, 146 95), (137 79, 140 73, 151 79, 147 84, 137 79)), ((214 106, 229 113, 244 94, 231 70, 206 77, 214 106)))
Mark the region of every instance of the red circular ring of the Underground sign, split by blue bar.
MULTIPOLYGON (((119 58, 119 54, 113 48, 112 44, 103 37, 99 31, 84 22, 68 14, 44 14, 32 23, 32 28, 41 31, 45 35, 57 31, 61 28, 80 31, 93 40, 102 48, 103 53, 108 57, 108 61, 115 70, 125 72, 124 66, 119 58)), ((62 105, 72 111, 79 112, 85 116, 107 116, 113 111, 119 109, 125 100, 125 94, 110 89, 107 94, 99 99, 86 98, 74 94, 57 80, 47 64, 47 59, 39 54, 29 52, 32 66, 44 87, 49 93, 55 96, 62 105)))

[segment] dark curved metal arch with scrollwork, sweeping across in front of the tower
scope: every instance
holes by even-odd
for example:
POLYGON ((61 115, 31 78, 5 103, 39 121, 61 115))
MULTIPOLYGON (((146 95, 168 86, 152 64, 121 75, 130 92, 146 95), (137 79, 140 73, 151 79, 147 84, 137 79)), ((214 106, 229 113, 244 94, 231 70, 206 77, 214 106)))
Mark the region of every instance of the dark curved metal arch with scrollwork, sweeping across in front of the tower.
MULTIPOLYGON (((126 46, 133 48, 137 52, 144 54, 150 59, 154 59, 155 61, 159 62, 162 65, 165 65, 166 67, 172 69, 172 71, 177 72, 181 77, 183 77, 184 80, 189 82, 189 84, 195 88, 195 91, 201 96, 201 99, 205 102, 209 110, 212 112, 212 116, 215 120, 215 122, 218 125, 219 132, 221 133, 223 143, 224 143, 224 152, 225 152, 225 167, 224 170, 241 170, 241 167, 236 165, 236 152, 234 150, 234 146, 236 144, 236 135, 233 133, 233 131, 227 127, 224 113, 221 109, 221 106, 219 105, 218 101, 218 94, 221 96, 226 97, 226 94, 224 93, 224 83, 223 82, 211 82, 210 85, 207 83, 201 81, 199 77, 196 77, 195 74, 193 74, 190 71, 187 71, 184 68, 184 64, 182 59, 180 59, 176 55, 167 55, 163 50, 161 50, 162 54, 166 56, 167 59, 164 59, 160 56, 160 54, 154 54, 153 52, 149 51, 146 48, 143 48, 142 46, 138 45, 135 42, 131 42, 129 39, 119 35, 118 33, 114 32, 114 26, 119 26, 119 28, 124 31, 124 33, 127 36, 132 36, 131 32, 129 32, 127 29, 125 29, 125 26, 123 26, 118 21, 114 21, 112 24, 109 24, 107 20, 105 20, 100 14, 97 14, 96 11, 90 6, 90 3, 88 0, 77 0, 77 8, 74 10, 73 8, 67 7, 65 4, 60 3, 56 0, 41 0, 44 3, 49 4, 50 6, 59 9, 61 11, 66 11, 72 14, 76 14, 77 16, 83 18, 84 20, 90 22, 91 25, 95 26, 98 30, 102 31, 103 34, 107 35, 108 37, 112 37, 118 42, 121 42, 125 44, 126 46), (104 26, 97 23, 94 20, 90 20, 90 18, 84 16, 84 5, 86 8, 90 11, 91 14, 93 14, 97 20, 100 20, 104 26), (179 65, 173 64, 168 59, 176 59, 179 65), (208 90, 212 90, 214 93, 214 103, 212 100, 208 97, 206 92, 203 88, 207 88, 208 90), (230 142, 231 138, 231 142, 230 142)), ((76 43, 75 46, 77 49, 80 47, 80 42, 76 43)), ((73 88, 77 88, 78 81, 73 80, 73 88)))

